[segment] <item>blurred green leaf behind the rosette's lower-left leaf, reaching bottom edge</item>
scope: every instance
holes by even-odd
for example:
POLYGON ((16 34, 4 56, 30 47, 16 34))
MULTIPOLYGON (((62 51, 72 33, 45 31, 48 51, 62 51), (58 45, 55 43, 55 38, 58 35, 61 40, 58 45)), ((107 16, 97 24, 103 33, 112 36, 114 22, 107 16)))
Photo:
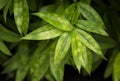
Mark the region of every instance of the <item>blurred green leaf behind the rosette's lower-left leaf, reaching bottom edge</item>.
POLYGON ((50 52, 50 71, 56 81, 63 81, 65 61, 63 59, 61 62, 57 64, 54 63, 54 56, 55 56, 54 49, 55 49, 55 45, 51 47, 51 52, 50 52))

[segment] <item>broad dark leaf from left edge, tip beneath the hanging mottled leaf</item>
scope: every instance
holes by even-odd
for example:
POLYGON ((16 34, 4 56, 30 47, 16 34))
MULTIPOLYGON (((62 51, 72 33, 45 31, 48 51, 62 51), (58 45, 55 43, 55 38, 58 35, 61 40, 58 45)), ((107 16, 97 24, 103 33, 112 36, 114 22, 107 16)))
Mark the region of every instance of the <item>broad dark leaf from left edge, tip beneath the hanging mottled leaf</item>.
POLYGON ((0 39, 7 42, 17 42, 20 36, 0 24, 0 39))

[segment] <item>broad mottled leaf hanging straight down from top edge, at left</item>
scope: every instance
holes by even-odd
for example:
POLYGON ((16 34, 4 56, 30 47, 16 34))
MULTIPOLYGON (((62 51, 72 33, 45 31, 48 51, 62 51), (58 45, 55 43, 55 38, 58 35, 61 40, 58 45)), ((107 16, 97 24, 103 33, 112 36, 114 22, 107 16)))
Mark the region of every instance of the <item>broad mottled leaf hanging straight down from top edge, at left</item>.
POLYGON ((29 8, 26 0, 14 0, 14 18, 20 34, 26 34, 29 25, 29 8))

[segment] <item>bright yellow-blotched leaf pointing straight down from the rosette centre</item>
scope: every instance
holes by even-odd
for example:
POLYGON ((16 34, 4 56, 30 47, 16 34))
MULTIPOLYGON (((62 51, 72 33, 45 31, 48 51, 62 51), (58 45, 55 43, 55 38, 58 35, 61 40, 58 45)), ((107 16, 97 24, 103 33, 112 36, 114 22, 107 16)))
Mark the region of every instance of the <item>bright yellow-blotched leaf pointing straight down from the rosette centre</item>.
POLYGON ((80 72, 81 70, 81 66, 82 66, 82 43, 81 40, 79 38, 79 35, 77 33, 77 31, 73 31, 72 32, 72 56, 75 62, 75 65, 78 69, 78 71, 80 72))

